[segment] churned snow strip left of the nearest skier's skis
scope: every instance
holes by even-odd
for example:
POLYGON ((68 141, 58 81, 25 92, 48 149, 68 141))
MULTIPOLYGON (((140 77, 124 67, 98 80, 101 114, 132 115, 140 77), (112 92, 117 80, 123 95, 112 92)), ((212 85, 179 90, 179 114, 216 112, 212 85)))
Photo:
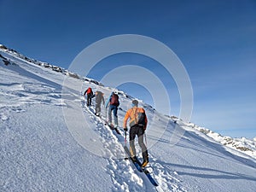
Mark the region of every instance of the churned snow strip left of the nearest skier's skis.
MULTIPOLYGON (((84 106, 84 102, 82 102, 82 105, 84 106)), ((106 172, 108 172, 112 178, 114 185, 113 191, 144 190, 142 189, 143 179, 137 176, 132 169, 130 162, 128 160, 124 160, 125 151, 118 143, 118 137, 108 128, 108 125, 104 125, 102 119, 99 119, 93 114, 94 110, 92 108, 84 107, 84 112, 90 115, 91 123, 96 124, 96 131, 102 137, 102 143, 104 143, 106 156, 108 156, 108 158, 106 158, 106 160, 108 160, 106 172), (118 154, 124 154, 123 158, 116 158, 118 154)))

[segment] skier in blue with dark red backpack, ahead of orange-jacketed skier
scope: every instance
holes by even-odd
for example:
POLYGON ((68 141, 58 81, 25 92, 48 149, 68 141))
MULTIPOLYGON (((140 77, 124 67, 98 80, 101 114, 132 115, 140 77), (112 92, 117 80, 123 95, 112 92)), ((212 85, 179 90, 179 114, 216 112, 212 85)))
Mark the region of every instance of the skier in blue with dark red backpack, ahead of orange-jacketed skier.
POLYGON ((118 127, 118 116, 117 116, 118 107, 119 107, 119 96, 116 93, 112 92, 111 95, 108 97, 108 101, 106 102, 106 108, 108 108, 108 125, 113 128, 118 127), (113 111, 114 124, 112 124, 112 111, 113 111))

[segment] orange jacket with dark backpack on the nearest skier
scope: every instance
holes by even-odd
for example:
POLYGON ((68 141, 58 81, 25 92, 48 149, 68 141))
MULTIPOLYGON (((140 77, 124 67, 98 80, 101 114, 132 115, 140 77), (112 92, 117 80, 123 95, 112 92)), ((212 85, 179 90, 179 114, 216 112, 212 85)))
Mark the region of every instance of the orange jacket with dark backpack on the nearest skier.
POLYGON ((126 114, 124 119, 124 128, 127 127, 127 120, 130 118, 130 127, 133 125, 143 125, 144 130, 147 128, 148 119, 143 108, 133 107, 130 108, 126 114))

